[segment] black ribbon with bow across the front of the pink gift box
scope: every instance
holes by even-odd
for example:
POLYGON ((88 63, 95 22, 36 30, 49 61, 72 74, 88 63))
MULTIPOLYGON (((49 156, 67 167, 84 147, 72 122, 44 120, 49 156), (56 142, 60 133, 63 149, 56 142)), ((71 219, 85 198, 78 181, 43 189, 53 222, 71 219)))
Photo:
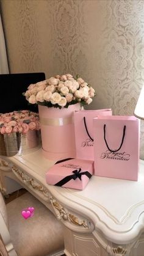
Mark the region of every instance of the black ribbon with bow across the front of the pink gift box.
POLYGON ((65 183, 67 183, 70 180, 76 180, 76 178, 79 178, 79 180, 81 180, 82 175, 86 175, 88 178, 92 177, 92 174, 90 174, 90 172, 81 172, 81 168, 79 168, 79 170, 73 170, 73 174, 72 175, 68 175, 65 178, 63 178, 62 180, 60 180, 59 182, 57 182, 55 184, 55 186, 63 186, 65 185, 65 183))

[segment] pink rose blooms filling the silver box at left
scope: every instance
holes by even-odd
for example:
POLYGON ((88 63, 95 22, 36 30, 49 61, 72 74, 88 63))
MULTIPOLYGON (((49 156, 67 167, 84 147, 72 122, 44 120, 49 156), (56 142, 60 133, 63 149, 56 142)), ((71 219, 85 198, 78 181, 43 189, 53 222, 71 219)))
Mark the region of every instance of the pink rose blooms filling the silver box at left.
POLYGON ((22 110, 0 114, 0 134, 25 134, 29 130, 40 130, 37 113, 22 110))

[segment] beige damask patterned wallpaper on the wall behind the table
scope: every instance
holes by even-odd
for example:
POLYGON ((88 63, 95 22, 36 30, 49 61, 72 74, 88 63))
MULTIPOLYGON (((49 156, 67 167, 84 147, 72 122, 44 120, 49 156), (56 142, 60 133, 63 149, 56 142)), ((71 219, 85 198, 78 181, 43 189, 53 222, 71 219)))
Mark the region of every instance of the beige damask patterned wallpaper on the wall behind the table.
MULTIPOLYGON (((88 108, 132 115, 144 81, 143 0, 2 0, 11 73, 79 73, 88 108)), ((140 155, 144 159, 144 122, 140 155)))

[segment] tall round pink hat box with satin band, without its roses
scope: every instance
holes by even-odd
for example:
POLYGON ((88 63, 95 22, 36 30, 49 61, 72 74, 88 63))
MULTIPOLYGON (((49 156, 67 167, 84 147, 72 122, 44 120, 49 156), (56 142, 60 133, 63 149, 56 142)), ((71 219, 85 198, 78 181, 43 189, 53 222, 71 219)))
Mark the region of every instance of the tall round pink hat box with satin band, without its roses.
POLYGON ((38 105, 45 158, 58 160, 76 156, 73 112, 79 109, 79 103, 62 109, 38 105))

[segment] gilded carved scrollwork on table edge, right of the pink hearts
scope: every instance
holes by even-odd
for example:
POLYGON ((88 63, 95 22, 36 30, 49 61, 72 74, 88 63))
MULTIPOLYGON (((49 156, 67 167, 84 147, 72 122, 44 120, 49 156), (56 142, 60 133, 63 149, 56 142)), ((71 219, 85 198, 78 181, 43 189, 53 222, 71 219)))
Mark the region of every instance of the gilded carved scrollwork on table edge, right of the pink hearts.
POLYGON ((54 207, 57 211, 56 212, 57 213, 57 219, 59 219, 59 220, 63 219, 64 221, 70 221, 74 225, 83 226, 85 228, 88 228, 87 221, 85 221, 85 220, 80 221, 76 216, 74 216, 71 213, 68 213, 68 211, 66 209, 64 209, 62 207, 62 205, 60 205, 52 197, 51 197, 50 201, 51 201, 52 207, 54 207))

